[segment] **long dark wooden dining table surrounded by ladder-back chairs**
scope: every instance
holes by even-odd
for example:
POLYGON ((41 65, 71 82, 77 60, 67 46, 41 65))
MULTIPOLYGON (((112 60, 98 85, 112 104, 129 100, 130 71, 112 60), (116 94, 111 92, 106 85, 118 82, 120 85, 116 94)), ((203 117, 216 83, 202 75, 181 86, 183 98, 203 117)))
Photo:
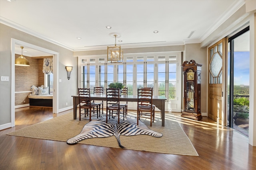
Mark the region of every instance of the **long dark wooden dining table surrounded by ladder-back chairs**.
MULTIPOLYGON (((91 94, 91 100, 104 100, 106 101, 106 95, 105 94, 91 94)), ((79 96, 75 95, 73 97, 73 113, 74 113, 74 119, 76 119, 77 114, 77 106, 79 104, 79 96)), ((164 114, 165 114, 165 96, 153 96, 152 98, 153 104, 160 109, 161 111, 161 119, 162 119, 162 126, 164 126, 164 114)), ((134 95, 122 95, 120 96, 120 101, 124 102, 138 102, 138 97, 134 95)))

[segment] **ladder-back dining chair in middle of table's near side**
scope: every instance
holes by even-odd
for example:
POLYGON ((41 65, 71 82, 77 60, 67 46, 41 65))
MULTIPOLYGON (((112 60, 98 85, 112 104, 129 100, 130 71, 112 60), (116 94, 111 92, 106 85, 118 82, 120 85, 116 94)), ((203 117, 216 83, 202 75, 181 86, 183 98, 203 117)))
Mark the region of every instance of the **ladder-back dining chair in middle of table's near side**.
POLYGON ((123 113, 123 117, 124 117, 124 112, 125 112, 124 111, 125 106, 120 105, 120 90, 118 88, 106 88, 106 102, 107 102, 106 123, 108 123, 108 112, 109 112, 109 119, 112 113, 112 117, 118 116, 118 123, 119 123, 120 113, 123 113))

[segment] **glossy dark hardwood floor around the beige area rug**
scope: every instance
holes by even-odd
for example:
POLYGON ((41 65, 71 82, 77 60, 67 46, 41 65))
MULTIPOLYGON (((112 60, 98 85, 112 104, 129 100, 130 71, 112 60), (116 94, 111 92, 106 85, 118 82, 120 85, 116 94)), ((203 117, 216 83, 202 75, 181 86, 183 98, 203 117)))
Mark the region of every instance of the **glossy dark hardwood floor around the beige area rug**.
MULTIPOLYGON (((17 129, 63 115, 52 108, 16 109, 16 126, 0 131, 1 170, 253 170, 256 147, 248 138, 203 117, 194 121, 173 113, 199 156, 161 154, 138 150, 67 145, 65 142, 6 135, 17 129)), ((168 113, 166 113, 168 116, 168 113)), ((154 125, 154 124, 153 124, 154 125)), ((136 145, 136 141, 134 141, 136 145)), ((170 145, 172 145, 170 143, 170 145)), ((156 143, 157 147, 157 143, 156 143)))

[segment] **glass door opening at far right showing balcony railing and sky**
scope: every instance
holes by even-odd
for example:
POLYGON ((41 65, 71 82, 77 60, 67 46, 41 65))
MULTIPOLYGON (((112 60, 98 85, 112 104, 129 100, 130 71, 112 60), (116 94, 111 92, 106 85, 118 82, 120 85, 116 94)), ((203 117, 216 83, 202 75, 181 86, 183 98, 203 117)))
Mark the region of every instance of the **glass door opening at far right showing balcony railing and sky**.
POLYGON ((249 26, 228 39, 228 126, 248 137, 249 26))

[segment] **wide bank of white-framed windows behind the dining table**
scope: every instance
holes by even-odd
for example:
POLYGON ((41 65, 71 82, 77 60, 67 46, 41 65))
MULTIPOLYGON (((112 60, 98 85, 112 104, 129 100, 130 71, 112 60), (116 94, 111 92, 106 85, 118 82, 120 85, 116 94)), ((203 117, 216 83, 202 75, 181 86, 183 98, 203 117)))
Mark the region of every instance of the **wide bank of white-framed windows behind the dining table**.
POLYGON ((106 88, 111 82, 122 82, 128 88, 128 95, 137 95, 138 88, 153 87, 155 96, 168 99, 168 111, 181 111, 181 102, 178 101, 182 94, 181 83, 178 83, 182 78, 181 69, 178 69, 182 64, 181 53, 124 55, 124 63, 107 63, 105 55, 78 59, 78 72, 82 75, 78 77, 78 84, 81 87, 106 88))

